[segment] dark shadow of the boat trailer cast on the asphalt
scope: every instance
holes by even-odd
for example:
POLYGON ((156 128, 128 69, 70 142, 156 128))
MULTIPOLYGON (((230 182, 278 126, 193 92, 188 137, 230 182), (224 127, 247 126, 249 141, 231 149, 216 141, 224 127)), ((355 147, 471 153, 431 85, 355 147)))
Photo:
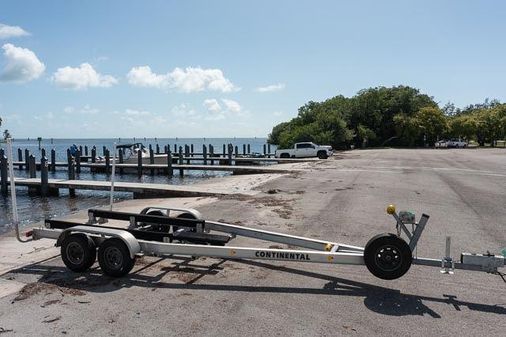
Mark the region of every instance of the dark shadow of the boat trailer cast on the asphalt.
POLYGON ((429 307, 430 303, 443 303, 453 306, 461 311, 466 307, 472 311, 506 315, 506 307, 502 305, 489 305, 467 301, 460 301, 455 295, 442 297, 417 296, 404 294, 399 290, 363 282, 334 277, 307 270, 295 269, 285 266, 273 265, 257 261, 234 260, 236 263, 286 272, 290 274, 316 278, 327 281, 322 288, 281 287, 281 286, 248 286, 228 284, 201 284, 196 283, 206 275, 216 275, 223 269, 222 264, 229 260, 220 260, 212 265, 203 266, 192 264, 191 259, 182 259, 174 262, 171 267, 163 267, 157 275, 145 275, 142 271, 158 264, 163 259, 157 259, 137 268, 134 272, 123 278, 111 278, 103 275, 98 267, 89 272, 76 274, 65 267, 34 264, 12 271, 12 274, 26 274, 40 276, 38 284, 47 284, 61 288, 69 288, 93 293, 108 293, 121 288, 147 287, 153 289, 184 289, 226 292, 250 293, 277 293, 277 294, 311 294, 363 297, 364 305, 369 310, 389 316, 424 316, 441 318, 441 315, 429 307), (180 282, 167 282, 164 277, 169 273, 182 273, 184 279, 180 282))

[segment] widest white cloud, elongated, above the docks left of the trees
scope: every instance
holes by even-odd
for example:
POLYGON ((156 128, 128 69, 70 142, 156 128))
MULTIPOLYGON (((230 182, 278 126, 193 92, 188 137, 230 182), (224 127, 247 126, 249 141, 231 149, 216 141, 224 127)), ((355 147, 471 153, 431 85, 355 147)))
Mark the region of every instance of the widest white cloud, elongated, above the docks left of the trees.
POLYGON ((200 67, 175 68, 167 74, 156 74, 149 66, 133 67, 127 74, 128 83, 139 87, 175 89, 184 93, 199 91, 238 91, 220 69, 200 67))

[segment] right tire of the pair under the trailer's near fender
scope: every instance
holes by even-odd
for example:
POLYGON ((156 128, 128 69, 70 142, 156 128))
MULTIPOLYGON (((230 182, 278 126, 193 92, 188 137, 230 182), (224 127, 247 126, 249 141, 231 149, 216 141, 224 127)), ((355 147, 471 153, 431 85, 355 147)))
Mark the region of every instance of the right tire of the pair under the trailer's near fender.
POLYGON ((104 274, 122 277, 128 274, 135 264, 127 246, 121 239, 107 239, 98 247, 98 264, 104 274))

